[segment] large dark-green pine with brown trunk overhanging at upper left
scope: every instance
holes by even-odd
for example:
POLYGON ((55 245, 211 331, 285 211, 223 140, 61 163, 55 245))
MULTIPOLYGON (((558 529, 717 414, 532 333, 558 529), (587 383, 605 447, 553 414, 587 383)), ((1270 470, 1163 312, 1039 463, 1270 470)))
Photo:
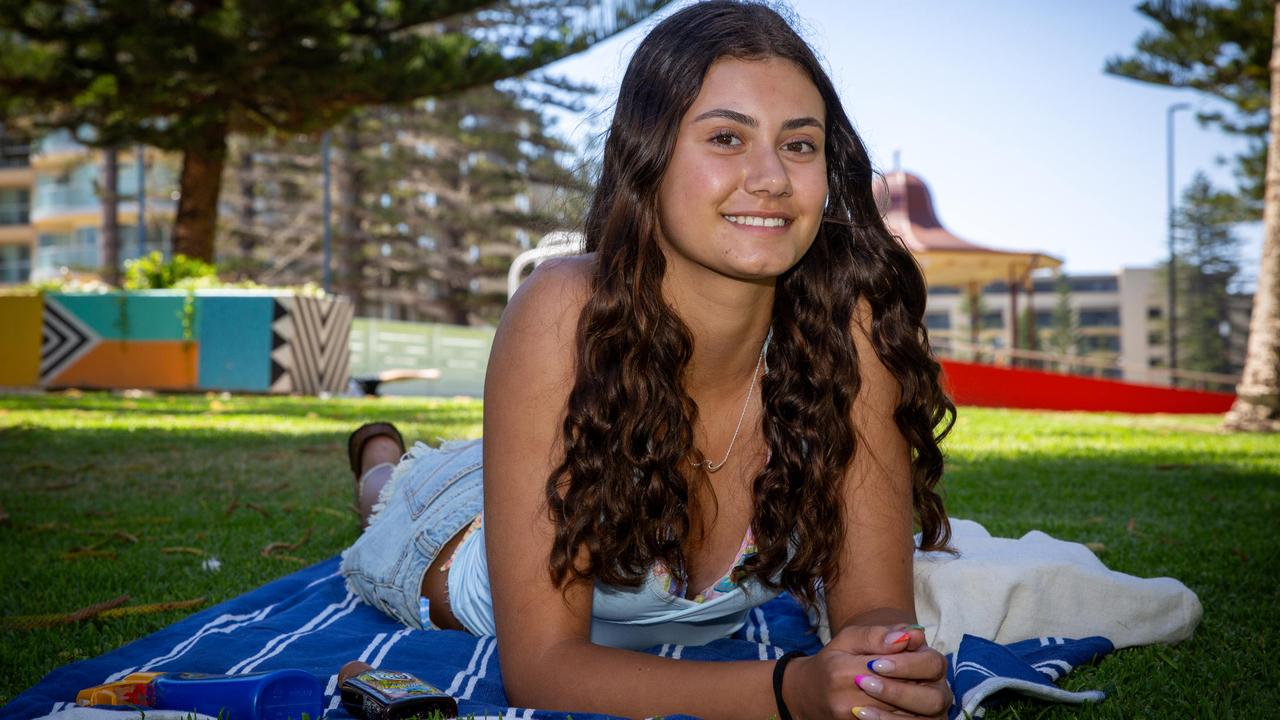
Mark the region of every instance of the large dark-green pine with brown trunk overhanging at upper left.
POLYGON ((174 250, 212 260, 232 133, 312 133, 544 67, 667 0, 0 0, 0 122, 183 155, 174 250))

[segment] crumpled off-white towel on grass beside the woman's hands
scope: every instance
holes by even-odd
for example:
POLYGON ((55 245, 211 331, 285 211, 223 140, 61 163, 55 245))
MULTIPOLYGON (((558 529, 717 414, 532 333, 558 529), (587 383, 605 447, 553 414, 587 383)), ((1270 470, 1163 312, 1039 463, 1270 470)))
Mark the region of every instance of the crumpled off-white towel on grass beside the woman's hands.
MULTIPOLYGON (((1007 644, 1038 637, 1102 635, 1115 647, 1175 643, 1203 609, 1172 578, 1108 570, 1080 543, 1039 530, 996 538, 978 523, 951 519, 959 555, 915 555, 915 614, 929 646, 946 655, 965 634, 1007 644)), ((819 637, 831 639, 826 618, 819 637)))

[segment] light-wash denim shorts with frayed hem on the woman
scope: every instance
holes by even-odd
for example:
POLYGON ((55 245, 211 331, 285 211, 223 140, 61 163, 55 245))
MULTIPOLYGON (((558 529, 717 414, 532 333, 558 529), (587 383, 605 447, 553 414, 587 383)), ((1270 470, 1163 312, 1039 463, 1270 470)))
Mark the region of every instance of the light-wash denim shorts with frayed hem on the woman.
POLYGON ((369 528, 342 553, 347 589, 411 628, 430 628, 422 575, 484 509, 479 439, 415 443, 378 496, 369 528))

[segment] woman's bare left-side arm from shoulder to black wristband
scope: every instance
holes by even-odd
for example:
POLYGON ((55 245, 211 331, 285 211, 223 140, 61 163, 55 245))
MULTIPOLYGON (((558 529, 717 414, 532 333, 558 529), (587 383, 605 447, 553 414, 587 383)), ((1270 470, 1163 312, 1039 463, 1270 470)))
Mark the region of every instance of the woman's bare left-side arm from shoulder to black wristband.
POLYGON ((507 697, 525 707, 634 717, 776 716, 773 662, 694 662, 593 644, 591 588, 576 584, 562 596, 550 582, 544 488, 562 452, 588 263, 548 264, 525 283, 503 316, 485 379, 484 530, 507 697))

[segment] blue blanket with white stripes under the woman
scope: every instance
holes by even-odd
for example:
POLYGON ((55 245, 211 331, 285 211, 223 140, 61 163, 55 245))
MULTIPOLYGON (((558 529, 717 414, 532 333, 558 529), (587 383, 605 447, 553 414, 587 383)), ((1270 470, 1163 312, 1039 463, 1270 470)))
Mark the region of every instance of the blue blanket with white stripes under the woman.
MULTIPOLYGON (((783 594, 754 610, 732 638, 699 647, 664 644, 649 652, 685 660, 768 660, 790 650, 812 653, 820 647, 804 611, 783 594)), ((347 592, 334 557, 113 652, 59 667, 0 708, 0 719, 50 714, 56 717, 74 706, 79 689, 128 673, 239 674, 282 667, 300 667, 320 678, 325 685, 326 717, 344 719, 349 716, 338 703, 338 669, 352 659, 375 667, 404 670, 445 688, 457 698, 463 717, 468 714, 477 719, 566 717, 566 712, 556 710, 509 707, 495 648, 492 637, 411 630, 397 624, 347 592)), ((1098 692, 1060 691, 1052 680, 1111 650, 1111 642, 1101 637, 1041 638, 1007 646, 966 637, 948 656, 956 696, 951 717, 964 712, 980 715, 980 705, 1006 689, 1061 702, 1101 700, 1098 692)), ((572 715, 579 720, 604 717, 572 715)), ((137 717, 137 712, 122 711, 119 716, 137 717)))

